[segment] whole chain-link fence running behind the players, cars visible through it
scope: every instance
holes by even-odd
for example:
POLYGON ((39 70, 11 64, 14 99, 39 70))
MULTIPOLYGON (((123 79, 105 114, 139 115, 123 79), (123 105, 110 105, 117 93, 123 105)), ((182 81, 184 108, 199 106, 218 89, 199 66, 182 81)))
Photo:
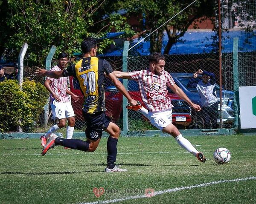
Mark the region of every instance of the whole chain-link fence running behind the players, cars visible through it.
MULTIPOLYGON (((182 88, 186 88, 187 83, 192 78, 192 73, 198 71, 198 69, 210 71, 215 74, 217 79, 217 84, 219 84, 219 59, 218 53, 205 53, 205 54, 190 54, 190 55, 166 55, 165 56, 166 66, 165 70, 170 72, 173 76, 177 85, 183 85, 182 88), (179 75, 177 75, 179 73, 179 75)), ((222 104, 222 114, 223 114, 223 124, 226 128, 233 127, 233 53, 223 54, 223 72, 222 72, 222 84, 224 93, 223 104, 222 104)), ((255 52, 239 52, 239 78, 240 84, 246 84, 247 86, 255 86, 255 52), (242 77, 243 76, 243 77, 242 77)), ((115 70, 122 71, 122 57, 105 57, 111 66, 115 70)), ((56 62, 53 62, 53 66, 56 62)), ((128 56, 128 72, 137 71, 141 69, 148 68, 148 56, 128 56)), ((35 80, 36 82, 43 83, 44 78, 35 76, 33 74, 35 68, 25 67, 24 68, 24 78, 35 80)), ((73 83, 73 80, 70 80, 73 83)), ((70 85, 72 91, 74 88, 78 88, 74 85, 70 85)), ((218 86, 216 86, 218 93, 218 86)), ((79 95, 80 90, 76 89, 76 94, 79 95)), ((195 88, 186 88, 184 92, 192 92, 196 94, 195 88)), ((133 80, 128 82, 128 92, 131 94, 132 98, 141 101, 138 85, 133 80)), ((84 119, 81 114, 81 107, 83 104, 83 95, 80 92, 79 102, 72 101, 73 109, 76 114, 76 129, 83 130, 86 126, 84 119)), ((107 114, 112 118, 114 122, 119 124, 122 129, 122 95, 113 86, 113 83, 106 78, 105 79, 105 96, 106 96, 106 109, 107 114)), ((207 129, 212 126, 206 126, 202 120, 201 112, 195 112, 193 109, 182 99, 175 96, 171 89, 169 89, 169 96, 172 100, 173 107, 173 123, 181 129, 207 129)), ((219 94, 218 94, 219 96, 219 94)), ((196 100, 193 97, 190 98, 192 101, 196 100)), ((220 102, 218 102, 220 103, 220 102)), ((220 111, 218 110, 219 115, 220 111)), ((51 110, 49 109, 48 117, 48 127, 52 126, 56 121, 51 120, 51 110)), ((219 117, 219 116, 218 116, 219 117)), ((43 126, 44 119, 39 118, 38 126, 43 126)), ((220 118, 217 118, 218 125, 220 124, 220 118)), ((211 124, 208 124, 211 125, 211 124)), ((154 129, 154 127, 149 124, 147 119, 140 115, 140 113, 133 110, 128 110, 128 127, 130 130, 139 129, 154 129)), ((39 128, 40 130, 40 128, 39 128)), ((28 130, 23 129, 23 132, 28 130)), ((37 130, 34 130, 37 131, 37 130)))

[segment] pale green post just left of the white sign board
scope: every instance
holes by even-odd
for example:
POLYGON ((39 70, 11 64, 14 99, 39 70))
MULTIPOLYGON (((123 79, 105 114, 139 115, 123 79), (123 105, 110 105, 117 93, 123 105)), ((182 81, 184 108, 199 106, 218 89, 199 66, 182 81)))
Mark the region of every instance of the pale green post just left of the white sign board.
POLYGON ((234 80, 234 126, 235 130, 239 130, 239 71, 238 71, 238 37, 233 38, 233 80, 234 80))

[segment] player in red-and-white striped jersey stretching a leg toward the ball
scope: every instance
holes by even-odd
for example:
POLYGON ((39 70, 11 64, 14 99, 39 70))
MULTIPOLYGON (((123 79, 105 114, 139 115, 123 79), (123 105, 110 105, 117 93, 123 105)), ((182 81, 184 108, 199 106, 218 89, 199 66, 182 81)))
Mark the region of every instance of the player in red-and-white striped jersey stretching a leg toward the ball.
MULTIPOLYGON (((149 57, 149 69, 134 72, 114 71, 114 73, 117 78, 136 80, 139 84, 140 95, 147 109, 142 106, 140 108, 140 104, 137 104, 134 110, 141 112, 158 129, 172 135, 180 147, 195 155, 199 161, 205 162, 203 153, 198 152, 186 138, 183 138, 177 127, 172 124, 172 105, 167 95, 167 86, 196 111, 200 111, 201 108, 189 100, 175 84, 172 76, 164 71, 164 66, 165 57, 160 53, 154 53, 149 57)), ((133 105, 127 107, 133 109, 133 105)))

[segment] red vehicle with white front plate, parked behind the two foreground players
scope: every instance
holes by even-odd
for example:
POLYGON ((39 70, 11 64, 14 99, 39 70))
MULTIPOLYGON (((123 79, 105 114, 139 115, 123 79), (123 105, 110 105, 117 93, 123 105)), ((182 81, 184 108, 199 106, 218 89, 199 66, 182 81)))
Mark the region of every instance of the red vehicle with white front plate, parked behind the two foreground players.
MULTIPOLYGON (((106 114, 112 118, 114 122, 119 121, 120 115, 122 115, 122 94, 113 86, 113 83, 105 78, 105 102, 106 102, 106 114)), ((79 89, 79 84, 74 81, 73 77, 70 77, 70 90, 79 96, 79 101, 72 101, 72 106, 76 114, 76 121, 83 121, 82 116, 82 105, 83 105, 83 94, 79 89)), ((138 84, 134 80, 128 80, 128 93, 131 97, 142 103, 138 84)), ((189 126, 192 122, 191 118, 191 107, 181 98, 173 93, 168 93, 172 100, 172 122, 173 124, 189 126)), ((143 103, 142 103, 143 104, 143 103)), ((129 110, 133 111, 133 110, 129 110)), ((134 111, 133 111, 134 112, 134 111)), ((129 117, 129 116, 128 116, 129 117)), ((142 117, 142 115, 141 115, 142 117)))

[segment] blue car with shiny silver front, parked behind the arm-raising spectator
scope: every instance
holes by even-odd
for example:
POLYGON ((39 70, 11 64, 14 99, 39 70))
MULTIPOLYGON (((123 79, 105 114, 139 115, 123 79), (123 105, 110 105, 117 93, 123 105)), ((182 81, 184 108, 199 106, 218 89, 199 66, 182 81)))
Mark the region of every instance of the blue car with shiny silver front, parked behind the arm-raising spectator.
MULTIPOLYGON (((201 105, 201 98, 196 88, 187 88, 187 84, 189 80, 192 78, 192 73, 170 73, 172 78, 175 80, 177 86, 179 86, 183 92, 189 97, 189 99, 198 105, 201 105)), ((201 78, 201 75, 198 75, 198 78, 201 78)), ((215 85, 218 101, 219 101, 219 108, 220 110, 220 86, 218 84, 215 85)), ((234 121, 234 92, 228 90, 222 90, 222 121, 224 124, 232 125, 234 121)), ((195 118, 195 114, 192 114, 192 118, 195 118)), ((218 118, 218 123, 220 123, 220 118, 218 118)))

